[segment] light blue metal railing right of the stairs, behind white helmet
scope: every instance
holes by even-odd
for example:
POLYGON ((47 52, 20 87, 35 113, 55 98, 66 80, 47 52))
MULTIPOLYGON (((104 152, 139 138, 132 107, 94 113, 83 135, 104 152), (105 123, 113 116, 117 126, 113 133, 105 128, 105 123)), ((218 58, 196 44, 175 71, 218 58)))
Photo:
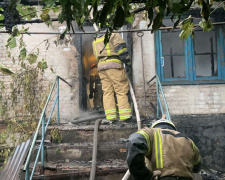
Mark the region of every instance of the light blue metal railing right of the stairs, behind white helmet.
POLYGON ((150 81, 147 82, 147 84, 149 84, 154 79, 156 79, 157 118, 159 118, 159 113, 161 112, 161 115, 165 114, 166 119, 171 121, 169 108, 166 102, 166 98, 163 92, 163 88, 162 88, 159 76, 156 74, 150 81))

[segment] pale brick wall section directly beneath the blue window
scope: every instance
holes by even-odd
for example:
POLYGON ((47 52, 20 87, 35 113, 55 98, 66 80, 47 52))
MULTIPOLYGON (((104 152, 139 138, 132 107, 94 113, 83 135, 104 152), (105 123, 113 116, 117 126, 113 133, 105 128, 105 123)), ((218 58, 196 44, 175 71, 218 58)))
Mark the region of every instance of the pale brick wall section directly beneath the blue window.
POLYGON ((225 85, 163 86, 171 114, 225 113, 225 85))

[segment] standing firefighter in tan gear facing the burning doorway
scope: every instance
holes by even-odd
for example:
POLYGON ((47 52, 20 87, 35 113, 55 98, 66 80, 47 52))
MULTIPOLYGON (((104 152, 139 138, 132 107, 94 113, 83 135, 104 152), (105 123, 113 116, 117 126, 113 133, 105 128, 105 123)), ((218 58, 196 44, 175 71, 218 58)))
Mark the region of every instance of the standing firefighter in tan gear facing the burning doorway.
POLYGON ((128 78, 123 67, 125 63, 130 69, 130 57, 126 43, 119 33, 113 33, 109 42, 104 45, 105 34, 99 34, 93 41, 94 55, 98 60, 98 72, 102 83, 103 105, 107 120, 117 120, 117 106, 119 119, 125 121, 131 118, 131 108, 128 101, 128 78))

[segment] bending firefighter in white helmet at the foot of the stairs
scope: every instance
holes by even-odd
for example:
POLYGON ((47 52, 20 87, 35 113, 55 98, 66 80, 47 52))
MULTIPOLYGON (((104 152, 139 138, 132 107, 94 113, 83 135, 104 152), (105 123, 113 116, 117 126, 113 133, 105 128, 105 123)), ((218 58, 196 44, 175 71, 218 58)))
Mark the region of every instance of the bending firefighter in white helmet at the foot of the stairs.
POLYGON ((131 134, 126 146, 129 171, 135 180, 151 180, 155 171, 161 172, 159 180, 192 180, 192 173, 201 170, 194 142, 166 119, 131 134), (145 157, 150 161, 148 168, 145 157))

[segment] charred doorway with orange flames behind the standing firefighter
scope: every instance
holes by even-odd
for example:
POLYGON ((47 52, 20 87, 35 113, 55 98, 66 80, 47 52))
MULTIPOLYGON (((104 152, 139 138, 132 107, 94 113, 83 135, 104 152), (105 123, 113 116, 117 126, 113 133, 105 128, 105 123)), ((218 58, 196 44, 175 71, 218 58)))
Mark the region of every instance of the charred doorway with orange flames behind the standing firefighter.
MULTIPOLYGON (((76 31, 79 29, 74 26, 76 31)), ((128 25, 123 26, 123 30, 127 30, 128 25)), ((92 25, 84 26, 85 32, 94 32, 92 25)), ((81 31, 80 31, 81 32, 81 31)), ((123 39, 127 43, 127 48, 132 52, 132 35, 131 33, 122 33, 123 39)), ((102 85, 97 72, 97 59, 93 54, 92 41, 95 34, 82 33, 74 35, 74 44, 79 52, 79 104, 84 110, 103 110, 102 102, 102 85)))

